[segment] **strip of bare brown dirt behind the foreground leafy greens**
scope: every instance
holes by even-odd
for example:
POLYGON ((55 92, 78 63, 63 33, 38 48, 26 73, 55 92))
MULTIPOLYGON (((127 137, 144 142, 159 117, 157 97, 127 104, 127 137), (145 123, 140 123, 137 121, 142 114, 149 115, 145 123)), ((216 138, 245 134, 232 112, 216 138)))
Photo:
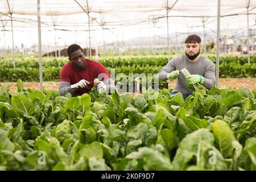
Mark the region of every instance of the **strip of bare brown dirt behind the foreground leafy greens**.
MULTIPOLYGON (((10 84, 10 93, 16 92, 16 82, 0 82, 0 90, 4 84, 10 84)), ((173 88, 175 81, 169 82, 169 88, 173 88)), ((256 88, 256 78, 220 78, 218 81, 219 88, 249 88, 251 90, 256 88)), ((25 89, 39 90, 39 82, 23 82, 25 89)), ((43 82, 43 87, 46 90, 59 90, 59 82, 43 82)))

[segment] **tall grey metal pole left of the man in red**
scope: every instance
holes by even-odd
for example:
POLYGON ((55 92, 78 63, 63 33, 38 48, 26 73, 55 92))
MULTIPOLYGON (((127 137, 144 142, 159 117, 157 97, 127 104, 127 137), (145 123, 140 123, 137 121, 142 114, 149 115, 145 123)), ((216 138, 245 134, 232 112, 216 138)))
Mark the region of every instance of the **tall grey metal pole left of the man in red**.
POLYGON ((38 0, 38 48, 39 48, 39 80, 40 80, 40 92, 43 92, 40 0, 38 0))

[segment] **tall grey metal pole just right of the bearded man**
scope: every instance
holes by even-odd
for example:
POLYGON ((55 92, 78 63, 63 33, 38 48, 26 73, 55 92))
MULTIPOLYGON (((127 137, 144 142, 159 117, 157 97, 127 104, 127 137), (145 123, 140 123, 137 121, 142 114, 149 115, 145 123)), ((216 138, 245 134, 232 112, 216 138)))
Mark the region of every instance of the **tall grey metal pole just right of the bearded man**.
POLYGON ((218 15, 217 15, 217 50, 216 50, 216 82, 215 82, 215 86, 216 88, 218 88, 218 68, 219 68, 219 64, 220 64, 220 3, 221 0, 218 0, 218 15))

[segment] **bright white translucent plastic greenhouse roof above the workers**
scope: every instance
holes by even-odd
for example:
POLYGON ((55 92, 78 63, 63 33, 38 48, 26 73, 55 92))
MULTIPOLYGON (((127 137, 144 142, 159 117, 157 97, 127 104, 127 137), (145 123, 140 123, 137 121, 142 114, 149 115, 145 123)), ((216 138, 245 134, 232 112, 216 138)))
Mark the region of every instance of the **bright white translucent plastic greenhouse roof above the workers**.
MULTIPOLYGON (((167 11, 170 36, 175 32, 202 31, 203 25, 213 33, 217 28, 217 0, 41 0, 40 6, 43 44, 51 44, 56 35, 60 44, 68 44, 70 39, 82 39, 87 44, 88 12, 93 46, 102 44, 103 37, 107 42, 153 34, 166 38, 167 11)), ((245 32, 247 7, 252 28, 256 0, 221 0, 221 30, 227 34, 229 30, 245 32)), ((36 42, 37 1, 0 0, 0 30, 5 30, 8 37, 11 14, 16 40, 36 42)))

